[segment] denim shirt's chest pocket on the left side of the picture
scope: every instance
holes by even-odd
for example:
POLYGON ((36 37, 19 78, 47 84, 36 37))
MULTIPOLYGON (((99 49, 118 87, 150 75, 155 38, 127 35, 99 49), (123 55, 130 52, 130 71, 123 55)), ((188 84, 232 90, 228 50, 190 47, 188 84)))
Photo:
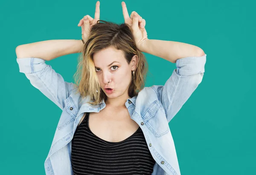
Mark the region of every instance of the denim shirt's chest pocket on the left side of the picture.
POLYGON ((59 130, 68 126, 70 123, 73 123, 79 111, 72 97, 68 97, 67 99, 65 99, 64 103, 65 103, 65 107, 61 113, 61 118, 57 126, 59 130))

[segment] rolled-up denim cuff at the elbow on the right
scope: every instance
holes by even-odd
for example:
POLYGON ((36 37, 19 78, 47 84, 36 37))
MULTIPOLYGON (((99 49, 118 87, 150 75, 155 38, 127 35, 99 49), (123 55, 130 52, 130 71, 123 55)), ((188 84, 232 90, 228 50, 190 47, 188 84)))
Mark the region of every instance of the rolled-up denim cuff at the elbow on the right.
POLYGON ((201 57, 184 57, 177 59, 176 72, 178 75, 195 75, 204 72, 206 54, 201 57))

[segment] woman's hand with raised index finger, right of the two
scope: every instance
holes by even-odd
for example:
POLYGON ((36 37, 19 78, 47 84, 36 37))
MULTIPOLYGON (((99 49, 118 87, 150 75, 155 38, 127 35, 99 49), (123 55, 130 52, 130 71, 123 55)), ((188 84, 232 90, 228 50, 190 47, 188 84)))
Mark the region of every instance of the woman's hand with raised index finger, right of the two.
POLYGON ((134 35, 134 40, 137 48, 143 51, 146 46, 148 35, 145 29, 146 21, 140 15, 133 11, 129 17, 128 10, 126 8, 125 2, 122 2, 122 11, 125 19, 125 23, 130 27, 132 34, 134 35))

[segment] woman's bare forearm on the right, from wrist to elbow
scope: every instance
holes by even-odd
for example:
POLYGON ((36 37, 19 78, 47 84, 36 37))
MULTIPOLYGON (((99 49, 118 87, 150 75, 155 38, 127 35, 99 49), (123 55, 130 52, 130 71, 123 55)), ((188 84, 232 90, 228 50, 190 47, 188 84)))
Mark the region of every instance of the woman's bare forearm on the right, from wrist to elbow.
POLYGON ((177 59, 184 57, 201 57, 205 55, 204 51, 198 46, 166 40, 147 39, 139 49, 142 52, 161 57, 172 63, 176 63, 177 59))

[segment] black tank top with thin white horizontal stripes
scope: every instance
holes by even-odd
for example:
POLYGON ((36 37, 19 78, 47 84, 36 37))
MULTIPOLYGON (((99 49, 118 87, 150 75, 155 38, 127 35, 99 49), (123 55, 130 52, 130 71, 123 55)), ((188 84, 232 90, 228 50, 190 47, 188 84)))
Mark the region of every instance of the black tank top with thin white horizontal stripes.
POLYGON ((109 142, 94 135, 88 121, 89 113, 72 139, 74 175, 151 175, 155 160, 140 127, 123 141, 109 142))

